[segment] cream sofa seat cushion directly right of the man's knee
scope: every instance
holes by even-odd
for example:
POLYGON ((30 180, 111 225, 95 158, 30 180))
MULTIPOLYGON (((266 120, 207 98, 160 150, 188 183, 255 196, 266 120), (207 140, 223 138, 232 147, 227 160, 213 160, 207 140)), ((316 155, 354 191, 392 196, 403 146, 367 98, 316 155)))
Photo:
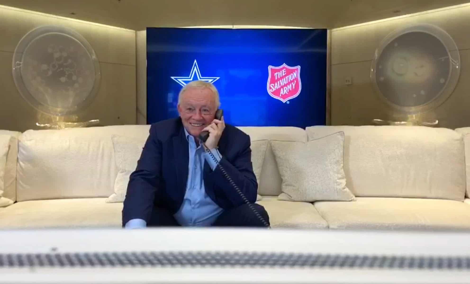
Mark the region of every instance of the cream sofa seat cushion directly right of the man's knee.
POLYGON ((272 228, 328 228, 312 203, 277 200, 277 196, 263 196, 257 203, 265 207, 272 228))

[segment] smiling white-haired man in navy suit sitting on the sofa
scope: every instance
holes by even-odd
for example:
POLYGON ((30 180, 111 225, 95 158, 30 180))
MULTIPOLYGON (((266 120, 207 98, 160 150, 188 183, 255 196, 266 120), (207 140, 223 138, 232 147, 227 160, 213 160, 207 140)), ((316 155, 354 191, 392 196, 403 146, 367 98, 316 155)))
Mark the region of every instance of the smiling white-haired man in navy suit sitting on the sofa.
POLYGON ((269 226, 266 210, 254 203, 258 183, 251 165, 250 137, 225 124, 223 117, 214 119, 219 106, 214 85, 193 81, 180 91, 180 117, 151 125, 127 186, 122 211, 125 228, 269 226), (204 130, 209 138, 202 145, 199 134, 204 130))

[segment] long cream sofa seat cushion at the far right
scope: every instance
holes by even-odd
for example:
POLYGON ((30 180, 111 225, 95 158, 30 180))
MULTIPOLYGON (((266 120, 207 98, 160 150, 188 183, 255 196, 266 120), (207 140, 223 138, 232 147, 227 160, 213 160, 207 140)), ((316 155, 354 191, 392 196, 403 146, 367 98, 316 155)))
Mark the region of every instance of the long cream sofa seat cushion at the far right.
POLYGON ((355 202, 318 201, 314 205, 330 229, 470 229, 470 205, 462 201, 357 197, 355 202))

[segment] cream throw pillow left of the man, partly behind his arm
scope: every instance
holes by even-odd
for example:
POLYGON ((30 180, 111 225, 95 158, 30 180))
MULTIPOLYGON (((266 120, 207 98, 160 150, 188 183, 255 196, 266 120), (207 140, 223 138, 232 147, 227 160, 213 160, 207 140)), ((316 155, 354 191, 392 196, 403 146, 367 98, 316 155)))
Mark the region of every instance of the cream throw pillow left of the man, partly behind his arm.
POLYGON ((106 200, 108 203, 124 202, 129 177, 137 168, 137 161, 141 157, 142 148, 146 140, 112 135, 116 166, 119 168, 114 183, 114 193, 106 200))

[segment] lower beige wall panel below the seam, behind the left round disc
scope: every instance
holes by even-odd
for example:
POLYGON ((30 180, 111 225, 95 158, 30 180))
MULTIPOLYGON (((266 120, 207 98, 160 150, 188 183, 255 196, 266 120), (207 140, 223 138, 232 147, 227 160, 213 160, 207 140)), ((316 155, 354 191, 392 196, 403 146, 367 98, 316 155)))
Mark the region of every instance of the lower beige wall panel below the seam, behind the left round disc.
MULTIPOLYGON (((31 107, 16 90, 11 75, 13 53, 0 52, 0 129, 25 131, 41 129, 36 122, 53 118, 31 107)), ((102 80, 92 105, 78 121, 100 119, 100 125, 135 124, 135 66, 100 63, 102 80)))

